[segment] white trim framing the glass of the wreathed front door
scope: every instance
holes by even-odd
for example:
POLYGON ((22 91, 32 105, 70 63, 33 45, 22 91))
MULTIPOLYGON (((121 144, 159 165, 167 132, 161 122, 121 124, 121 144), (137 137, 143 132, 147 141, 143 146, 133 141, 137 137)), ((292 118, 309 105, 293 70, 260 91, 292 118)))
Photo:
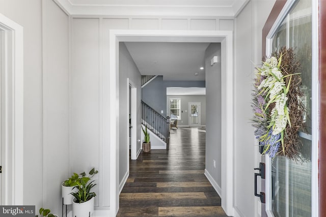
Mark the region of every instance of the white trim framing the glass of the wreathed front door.
MULTIPOLYGON (((273 36, 278 28, 278 26, 281 24, 283 19, 285 18, 286 14, 289 12, 293 4, 295 3, 295 0, 288 0, 282 11, 280 12, 278 18, 274 22, 273 26, 270 28, 268 35, 266 36, 266 56, 269 56, 272 51, 272 39, 273 36)), ((314 102, 312 102, 312 111, 315 111, 314 114, 312 114, 312 129, 315 129, 312 131, 312 153, 311 153, 311 216, 318 216, 318 200, 319 200, 319 194, 318 194, 318 132, 319 132, 319 102, 318 102, 318 96, 319 96, 319 81, 318 81, 318 52, 319 52, 319 45, 318 45, 318 2, 312 0, 312 72, 315 72, 312 74, 312 97, 315 99, 314 102)), ((270 158, 265 156, 265 162, 266 162, 266 179, 265 179, 265 193, 266 193, 266 213, 268 217, 273 217, 273 211, 271 204, 271 165, 272 162, 270 158)))

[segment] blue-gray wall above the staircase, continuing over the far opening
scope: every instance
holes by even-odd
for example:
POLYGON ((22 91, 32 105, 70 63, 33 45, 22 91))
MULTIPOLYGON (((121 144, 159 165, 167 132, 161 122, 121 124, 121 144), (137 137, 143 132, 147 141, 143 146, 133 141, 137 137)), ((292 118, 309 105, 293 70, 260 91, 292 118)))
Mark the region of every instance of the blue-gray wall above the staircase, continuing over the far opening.
POLYGON ((157 76, 154 80, 142 88, 142 100, 155 111, 167 116, 167 87, 205 87, 205 81, 165 81, 163 76, 157 76))

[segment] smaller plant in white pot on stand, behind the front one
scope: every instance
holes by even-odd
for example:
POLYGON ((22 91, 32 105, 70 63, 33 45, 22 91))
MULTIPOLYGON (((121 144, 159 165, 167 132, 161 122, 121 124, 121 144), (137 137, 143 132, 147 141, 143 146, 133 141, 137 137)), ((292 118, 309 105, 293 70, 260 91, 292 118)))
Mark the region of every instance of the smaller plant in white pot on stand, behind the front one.
MULTIPOLYGON (((98 171, 95 171, 95 169, 91 169, 91 171, 89 172, 88 177, 92 178, 98 171)), ((62 194, 62 198, 63 198, 63 204, 69 205, 72 204, 72 199, 73 199, 73 195, 71 195, 71 192, 77 192, 77 189, 75 189, 74 187, 77 186, 77 181, 79 180, 79 178, 85 177, 86 173, 80 173, 79 175, 77 173, 73 173, 73 175, 68 178, 67 180, 65 180, 64 182, 62 182, 61 185, 61 194, 62 194)))

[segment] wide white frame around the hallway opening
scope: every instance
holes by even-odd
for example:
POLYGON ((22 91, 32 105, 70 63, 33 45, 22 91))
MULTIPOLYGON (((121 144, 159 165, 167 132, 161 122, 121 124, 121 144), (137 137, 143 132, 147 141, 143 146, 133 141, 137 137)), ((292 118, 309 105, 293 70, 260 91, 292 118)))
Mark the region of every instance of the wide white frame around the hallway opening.
POLYGON ((233 33, 194 30, 110 30, 110 70, 104 72, 103 111, 109 112, 110 213, 119 210, 119 42, 217 42, 222 50, 222 208, 233 215, 233 33), (107 75, 108 74, 108 75, 107 75))

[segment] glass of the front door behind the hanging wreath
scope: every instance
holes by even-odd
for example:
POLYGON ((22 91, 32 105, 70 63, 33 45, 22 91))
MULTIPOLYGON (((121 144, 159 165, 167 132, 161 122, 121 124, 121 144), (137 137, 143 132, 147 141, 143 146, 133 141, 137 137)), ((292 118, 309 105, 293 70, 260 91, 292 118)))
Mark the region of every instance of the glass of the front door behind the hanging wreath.
MULTIPOLYGON (((312 216, 312 6, 311 1, 295 1, 270 40, 269 53, 282 46, 292 47, 301 63, 302 103, 306 108, 306 129, 298 133, 302 142, 300 161, 276 157, 269 162, 269 200, 267 213, 270 216, 312 216)), ((268 50, 267 50, 268 52, 268 50)), ((314 144, 316 145, 316 144, 314 144)), ((267 184, 268 185, 268 184, 267 184)))

